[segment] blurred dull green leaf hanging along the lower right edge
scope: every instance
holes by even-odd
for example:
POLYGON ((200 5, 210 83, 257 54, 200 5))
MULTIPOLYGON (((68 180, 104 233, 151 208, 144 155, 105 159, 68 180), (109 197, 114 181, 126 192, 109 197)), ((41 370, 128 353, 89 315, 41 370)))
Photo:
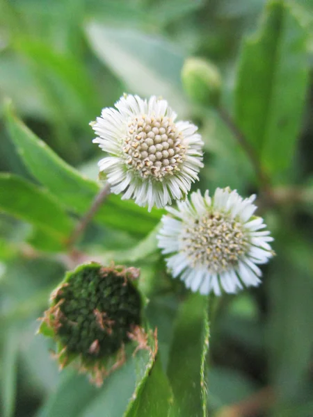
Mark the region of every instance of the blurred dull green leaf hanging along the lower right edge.
POLYGON ((280 259, 268 277, 270 375, 280 401, 294 402, 312 363, 312 249, 296 231, 283 227, 275 246, 280 259))

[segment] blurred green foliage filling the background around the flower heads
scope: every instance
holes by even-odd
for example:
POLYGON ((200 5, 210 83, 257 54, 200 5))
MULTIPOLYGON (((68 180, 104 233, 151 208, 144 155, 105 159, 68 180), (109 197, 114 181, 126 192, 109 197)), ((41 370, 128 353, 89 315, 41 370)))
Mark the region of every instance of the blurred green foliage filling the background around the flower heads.
POLYGON ((199 389, 183 393, 204 379, 216 416, 250 416, 251 401, 257 416, 313 416, 312 52, 312 0, 0 0, 2 416, 163 417, 173 394, 177 416, 201 416, 199 389), (215 109, 188 101, 189 56, 220 70, 221 105, 255 149, 266 193, 215 109), (198 124, 195 187, 257 193, 277 256, 262 286, 214 304, 204 372, 207 317, 166 274, 155 239, 163 212, 110 196, 77 248, 141 268, 160 357, 138 381, 130 359, 95 389, 58 373, 35 320, 74 262, 67 238, 99 190, 88 123, 122 92, 162 95, 198 124))

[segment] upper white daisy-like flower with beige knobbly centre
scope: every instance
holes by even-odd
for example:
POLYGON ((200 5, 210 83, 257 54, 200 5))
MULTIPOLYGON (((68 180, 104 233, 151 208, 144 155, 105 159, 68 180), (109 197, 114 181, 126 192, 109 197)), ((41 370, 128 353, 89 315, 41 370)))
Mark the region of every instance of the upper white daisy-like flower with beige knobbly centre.
POLYGON ((166 100, 125 95, 91 123, 98 136, 93 142, 109 154, 99 170, 112 193, 149 210, 188 193, 203 166, 203 142, 197 126, 176 117, 166 100))

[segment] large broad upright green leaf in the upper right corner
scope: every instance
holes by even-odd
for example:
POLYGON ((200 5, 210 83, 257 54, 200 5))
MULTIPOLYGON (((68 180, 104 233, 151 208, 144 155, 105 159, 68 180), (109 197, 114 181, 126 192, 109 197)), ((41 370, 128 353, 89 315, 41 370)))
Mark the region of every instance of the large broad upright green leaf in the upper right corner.
POLYGON ((291 5, 269 1, 239 60, 235 117, 262 166, 280 179, 296 148, 307 90, 307 33, 291 5))

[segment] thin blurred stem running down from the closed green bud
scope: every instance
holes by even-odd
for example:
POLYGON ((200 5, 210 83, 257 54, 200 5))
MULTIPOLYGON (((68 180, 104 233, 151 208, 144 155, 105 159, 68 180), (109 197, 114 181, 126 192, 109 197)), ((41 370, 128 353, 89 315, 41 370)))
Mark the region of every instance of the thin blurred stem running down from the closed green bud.
POLYGON ((220 116, 220 118, 228 126, 230 131, 232 131, 232 133, 234 134, 234 137, 236 138, 237 142, 239 143, 243 151, 246 152, 246 155, 250 159, 253 167, 255 168, 255 173, 257 174, 259 183, 261 184, 262 188, 268 191, 269 179, 267 175, 265 174, 264 170, 262 169, 261 164, 259 163, 259 158, 257 157, 255 149, 250 145, 250 142, 248 142, 243 131, 239 129, 239 126, 236 125, 236 123, 234 122, 234 119, 225 110, 225 108, 219 106, 217 108, 217 111, 218 111, 218 115, 220 116))

